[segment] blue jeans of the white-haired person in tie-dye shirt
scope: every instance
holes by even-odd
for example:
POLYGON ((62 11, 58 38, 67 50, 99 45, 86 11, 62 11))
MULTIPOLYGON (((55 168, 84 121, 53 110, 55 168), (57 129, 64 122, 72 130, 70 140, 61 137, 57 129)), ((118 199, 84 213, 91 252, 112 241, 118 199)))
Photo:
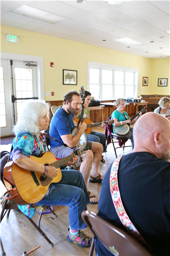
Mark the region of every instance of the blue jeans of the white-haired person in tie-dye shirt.
POLYGON ((87 210, 90 200, 82 174, 79 171, 62 171, 61 181, 53 185, 55 189, 36 204, 69 206, 70 228, 72 230, 86 228, 81 213, 87 210))

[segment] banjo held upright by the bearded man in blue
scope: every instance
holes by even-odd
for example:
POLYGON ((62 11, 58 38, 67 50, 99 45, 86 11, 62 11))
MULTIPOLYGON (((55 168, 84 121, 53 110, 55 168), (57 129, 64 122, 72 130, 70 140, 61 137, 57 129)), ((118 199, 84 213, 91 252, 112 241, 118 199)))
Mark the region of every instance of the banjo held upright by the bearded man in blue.
MULTIPOLYGON (((80 95, 81 95, 81 98, 82 98, 82 104, 81 104, 81 115, 80 115, 80 119, 79 119, 79 122, 78 122, 78 125, 80 124, 80 122, 82 123, 83 122, 83 114, 84 114, 84 106, 83 106, 83 103, 85 101, 85 91, 84 91, 84 86, 81 86, 81 92, 80 92, 80 95)), ((77 134, 78 132, 78 125, 77 127, 75 127, 73 130, 72 130, 72 136, 74 136, 75 134, 77 134)), ((77 142, 77 144, 75 145, 75 147, 83 147, 85 148, 87 145, 87 135, 86 135, 86 132, 83 132, 79 141, 77 142)))

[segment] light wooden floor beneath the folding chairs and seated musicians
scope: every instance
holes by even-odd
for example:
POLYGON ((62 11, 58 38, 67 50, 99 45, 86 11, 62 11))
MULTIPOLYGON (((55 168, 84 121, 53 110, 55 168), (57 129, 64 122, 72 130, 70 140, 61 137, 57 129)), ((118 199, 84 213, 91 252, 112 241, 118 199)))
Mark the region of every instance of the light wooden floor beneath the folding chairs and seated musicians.
MULTIPOLYGON (((94 128, 95 131, 104 132, 104 129, 99 127, 94 128)), ((126 145, 131 145, 130 140, 126 142, 126 145)), ((0 151, 10 151, 11 145, 0 145, 0 151)), ((117 156, 131 153, 132 148, 117 149, 117 156)), ((107 153, 104 153, 106 160, 105 164, 99 164, 99 173, 105 174, 109 165, 115 160, 115 154, 112 144, 108 145, 107 153)), ((97 191, 100 189, 98 183, 89 183, 89 190, 97 196, 97 191)), ((1 188, 1 187, 0 187, 1 188)), ((1 189, 1 194, 3 193, 1 189)), ((89 211, 98 212, 97 205, 89 204, 87 206, 89 211)), ((69 227, 69 207, 65 206, 54 206, 54 211, 58 215, 54 218, 52 213, 43 214, 41 219, 41 228, 45 234, 52 240, 54 246, 51 247, 46 240, 41 236, 38 231, 31 225, 31 223, 25 218, 24 214, 20 211, 11 211, 10 217, 3 219, 1 223, 1 239, 4 246, 6 256, 19 256, 24 251, 29 252, 36 246, 41 247, 31 253, 30 255, 88 255, 89 248, 83 249, 73 243, 67 241, 67 229, 69 227)), ((32 218, 38 222, 39 213, 35 213, 32 218)), ((84 229, 88 236, 91 236, 89 228, 84 229)), ((1 249, 0 249, 1 250, 1 249)), ((0 253, 2 255, 2 252, 0 253)), ((94 252, 95 256, 95 252, 94 252)))

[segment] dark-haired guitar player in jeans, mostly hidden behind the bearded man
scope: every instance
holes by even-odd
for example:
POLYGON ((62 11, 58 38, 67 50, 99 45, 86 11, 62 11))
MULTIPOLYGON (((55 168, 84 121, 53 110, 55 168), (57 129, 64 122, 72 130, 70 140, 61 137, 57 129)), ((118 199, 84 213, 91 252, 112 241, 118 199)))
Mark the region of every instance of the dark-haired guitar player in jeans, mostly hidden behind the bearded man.
MULTIPOLYGON (((87 102, 87 106, 89 106, 89 103, 90 103, 90 100, 91 100, 91 93, 88 92, 88 91, 85 91, 85 100, 87 102)), ((90 113, 90 110, 87 107, 84 110, 83 119, 84 118, 89 118, 90 119, 90 114, 89 113, 90 113)), ((80 115, 78 116, 78 119, 80 119, 80 115)), ((74 124, 77 126, 77 123, 74 122, 74 124)), ((102 123, 99 127, 101 127, 101 128, 105 127, 105 123, 102 123)), ((106 151, 106 135, 104 133, 91 131, 90 134, 87 134, 87 140, 101 143, 101 145, 103 145, 103 153, 107 152, 106 151)), ((104 156, 101 156, 101 161, 100 162, 105 163, 104 156)))

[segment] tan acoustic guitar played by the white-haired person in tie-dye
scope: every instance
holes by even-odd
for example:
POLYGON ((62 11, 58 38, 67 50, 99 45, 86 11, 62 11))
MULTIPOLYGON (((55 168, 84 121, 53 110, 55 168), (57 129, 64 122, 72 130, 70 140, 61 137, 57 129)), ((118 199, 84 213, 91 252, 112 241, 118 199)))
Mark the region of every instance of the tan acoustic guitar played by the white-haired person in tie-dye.
POLYGON ((16 188, 11 189, 12 191, 8 190, 11 197, 14 198, 13 201, 19 205, 35 204, 39 202, 47 193, 51 183, 61 181, 62 172, 60 167, 71 161, 75 155, 80 156, 85 154, 86 150, 86 148, 82 148, 58 161, 56 161, 53 153, 49 151, 44 153, 41 157, 30 156, 30 158, 38 164, 54 166, 57 169, 58 174, 53 179, 46 177, 41 172, 24 170, 13 161, 8 162, 4 167, 4 179, 16 188), (16 196, 17 194, 18 196, 16 196))

